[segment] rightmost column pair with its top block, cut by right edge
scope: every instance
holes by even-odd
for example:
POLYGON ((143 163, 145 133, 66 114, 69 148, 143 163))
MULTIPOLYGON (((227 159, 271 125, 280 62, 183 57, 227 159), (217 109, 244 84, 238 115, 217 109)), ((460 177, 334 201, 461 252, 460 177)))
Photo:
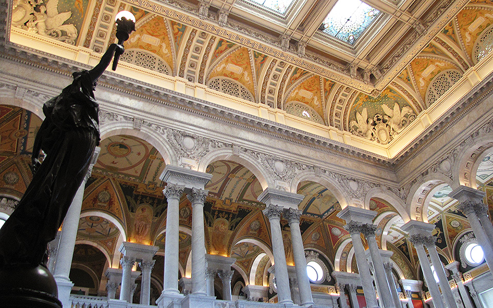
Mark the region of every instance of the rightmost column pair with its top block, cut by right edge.
POLYGON ((481 224, 477 214, 477 212, 481 211, 481 208, 484 207, 483 198, 485 193, 470 187, 460 186, 452 190, 448 196, 459 201, 457 208, 467 217, 467 220, 471 224, 472 232, 476 236, 481 248, 483 248, 484 259, 486 260, 488 267, 493 269, 493 240, 488 238, 488 234, 493 233, 491 230, 493 226, 491 223, 486 222, 484 225, 481 224), (485 229, 489 229, 488 232, 486 232, 485 229))

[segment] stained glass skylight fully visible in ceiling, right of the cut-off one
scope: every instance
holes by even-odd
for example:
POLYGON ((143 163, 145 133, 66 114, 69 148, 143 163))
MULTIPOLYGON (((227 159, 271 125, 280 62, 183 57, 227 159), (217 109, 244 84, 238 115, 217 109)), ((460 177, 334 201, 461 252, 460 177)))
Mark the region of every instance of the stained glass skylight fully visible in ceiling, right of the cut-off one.
POLYGON ((380 11, 359 0, 339 0, 330 10, 320 30, 354 44, 378 14, 380 11))

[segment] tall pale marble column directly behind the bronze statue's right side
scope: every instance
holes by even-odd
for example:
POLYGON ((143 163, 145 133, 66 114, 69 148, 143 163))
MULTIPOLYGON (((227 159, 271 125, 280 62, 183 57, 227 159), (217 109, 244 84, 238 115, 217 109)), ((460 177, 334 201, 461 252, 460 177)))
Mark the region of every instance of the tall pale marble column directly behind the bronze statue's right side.
POLYGON ((60 242, 58 244, 58 252, 56 253, 56 260, 53 266, 53 277, 55 278, 56 285, 58 286, 58 298, 64 306, 70 307, 70 291, 72 290, 73 283, 70 281, 70 267, 72 266, 73 249, 75 247, 75 239, 77 238, 77 231, 79 229, 79 221, 81 217, 82 201, 84 199, 84 187, 87 180, 90 178, 92 168, 96 164, 101 151, 100 147, 94 149, 94 153, 89 164, 89 169, 84 177, 81 186, 75 193, 72 203, 68 208, 65 219, 63 220, 62 233, 60 235, 60 242))

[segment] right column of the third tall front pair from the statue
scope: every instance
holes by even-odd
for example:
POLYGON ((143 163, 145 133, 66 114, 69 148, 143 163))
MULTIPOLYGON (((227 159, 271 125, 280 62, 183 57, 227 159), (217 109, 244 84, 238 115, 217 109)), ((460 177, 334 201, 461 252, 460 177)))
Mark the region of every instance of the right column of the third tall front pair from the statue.
POLYGON ((374 268, 375 282, 378 284, 378 290, 380 292, 381 302, 385 308, 399 306, 394 305, 392 295, 390 293, 389 282, 387 281, 387 275, 385 274, 384 263, 380 250, 375 239, 376 226, 373 224, 366 224, 362 229, 362 233, 368 242, 368 250, 370 251, 371 261, 374 268))

